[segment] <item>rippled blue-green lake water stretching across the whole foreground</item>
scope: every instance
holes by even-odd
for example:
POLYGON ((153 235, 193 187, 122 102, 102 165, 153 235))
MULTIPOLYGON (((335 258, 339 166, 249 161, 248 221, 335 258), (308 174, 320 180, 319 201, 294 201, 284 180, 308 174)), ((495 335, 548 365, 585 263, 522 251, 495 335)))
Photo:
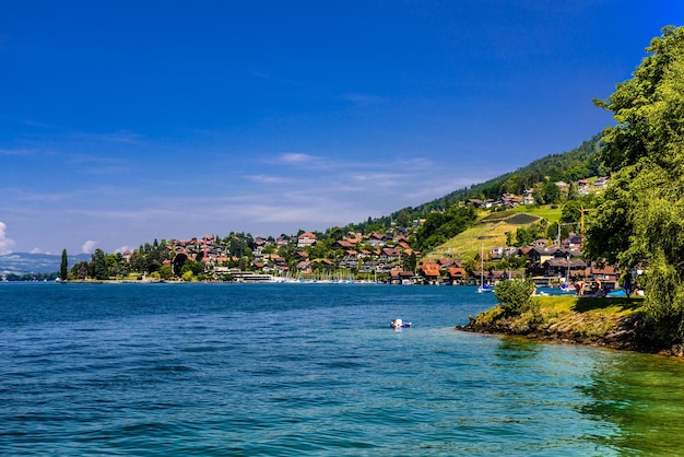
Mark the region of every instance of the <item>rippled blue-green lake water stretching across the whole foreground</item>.
POLYGON ((453 329, 494 303, 461 286, 0 283, 0 454, 684 454, 682 361, 453 329))

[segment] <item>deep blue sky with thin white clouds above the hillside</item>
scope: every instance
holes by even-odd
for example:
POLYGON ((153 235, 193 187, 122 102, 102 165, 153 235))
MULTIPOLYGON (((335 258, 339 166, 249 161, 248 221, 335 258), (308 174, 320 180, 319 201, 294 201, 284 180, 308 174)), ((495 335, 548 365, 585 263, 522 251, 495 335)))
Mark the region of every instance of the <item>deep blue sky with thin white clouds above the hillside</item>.
POLYGON ((577 147, 660 1, 5 1, 0 254, 325 230, 577 147))

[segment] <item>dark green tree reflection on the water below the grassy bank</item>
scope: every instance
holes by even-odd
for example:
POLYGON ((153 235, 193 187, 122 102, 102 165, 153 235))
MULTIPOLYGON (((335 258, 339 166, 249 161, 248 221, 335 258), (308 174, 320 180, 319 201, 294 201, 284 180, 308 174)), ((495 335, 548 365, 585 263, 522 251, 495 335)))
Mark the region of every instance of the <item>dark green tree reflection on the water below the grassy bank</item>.
POLYGON ((583 414, 613 422, 620 432, 595 436, 623 455, 684 455, 684 363, 636 353, 611 353, 579 389, 592 401, 583 414))

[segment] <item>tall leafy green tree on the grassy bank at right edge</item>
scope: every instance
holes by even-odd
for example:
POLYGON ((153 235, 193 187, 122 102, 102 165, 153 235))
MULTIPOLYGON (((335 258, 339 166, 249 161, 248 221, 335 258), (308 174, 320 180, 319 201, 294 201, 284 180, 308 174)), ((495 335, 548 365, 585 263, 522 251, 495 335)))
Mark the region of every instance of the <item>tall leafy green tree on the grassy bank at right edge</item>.
POLYGON ((588 216, 586 255, 647 267, 646 309, 684 337, 684 27, 665 27, 630 80, 595 104, 613 113, 601 159, 611 186, 588 216))

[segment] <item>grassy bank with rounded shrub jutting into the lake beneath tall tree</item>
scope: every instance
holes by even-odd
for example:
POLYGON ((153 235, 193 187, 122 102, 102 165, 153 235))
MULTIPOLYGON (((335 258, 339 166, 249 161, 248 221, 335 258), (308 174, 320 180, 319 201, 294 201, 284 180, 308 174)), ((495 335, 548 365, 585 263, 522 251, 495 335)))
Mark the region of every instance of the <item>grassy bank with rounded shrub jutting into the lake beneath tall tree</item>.
POLYGON ((458 330, 532 340, 684 356, 659 342, 641 310, 642 297, 534 296, 539 307, 505 317, 500 306, 470 316, 458 330))

